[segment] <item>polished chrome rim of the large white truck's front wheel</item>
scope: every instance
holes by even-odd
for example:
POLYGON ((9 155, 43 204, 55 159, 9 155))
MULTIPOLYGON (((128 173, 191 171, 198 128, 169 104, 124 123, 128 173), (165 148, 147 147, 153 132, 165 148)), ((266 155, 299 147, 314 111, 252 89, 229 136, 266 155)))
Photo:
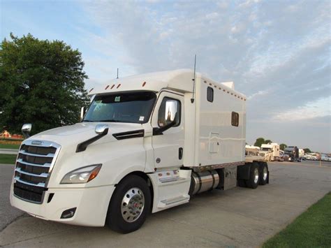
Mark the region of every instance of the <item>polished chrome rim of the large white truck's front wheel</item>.
POLYGON ((145 196, 139 188, 129 189, 122 199, 121 213, 124 221, 136 221, 145 206, 145 196))

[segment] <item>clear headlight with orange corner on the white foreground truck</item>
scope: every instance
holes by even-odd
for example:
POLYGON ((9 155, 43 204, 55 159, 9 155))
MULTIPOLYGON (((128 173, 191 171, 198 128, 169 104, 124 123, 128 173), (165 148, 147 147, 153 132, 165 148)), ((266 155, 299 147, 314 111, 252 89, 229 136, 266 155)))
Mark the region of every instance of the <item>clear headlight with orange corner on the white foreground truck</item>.
POLYGON ((101 169, 101 164, 93 166, 85 166, 77 170, 73 170, 62 178, 60 184, 84 184, 98 175, 101 169))

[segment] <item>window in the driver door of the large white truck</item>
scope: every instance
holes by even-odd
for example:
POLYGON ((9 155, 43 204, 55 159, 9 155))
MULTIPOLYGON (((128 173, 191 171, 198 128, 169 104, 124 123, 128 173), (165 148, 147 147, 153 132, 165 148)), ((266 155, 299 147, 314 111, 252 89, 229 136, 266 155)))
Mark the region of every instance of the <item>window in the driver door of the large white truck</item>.
POLYGON ((159 108, 158 124, 159 126, 166 126, 177 119, 177 124, 179 126, 181 115, 181 104, 180 101, 175 99, 170 99, 165 97, 159 108), (177 115, 177 116, 176 116, 177 115))

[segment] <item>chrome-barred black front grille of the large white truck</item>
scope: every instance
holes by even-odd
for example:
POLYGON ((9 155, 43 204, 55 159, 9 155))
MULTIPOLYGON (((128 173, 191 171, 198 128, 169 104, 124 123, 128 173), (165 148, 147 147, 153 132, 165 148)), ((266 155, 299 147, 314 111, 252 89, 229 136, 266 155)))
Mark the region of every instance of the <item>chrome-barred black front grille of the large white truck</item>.
POLYGON ((59 149, 60 145, 45 140, 24 141, 15 166, 15 196, 42 203, 59 149))

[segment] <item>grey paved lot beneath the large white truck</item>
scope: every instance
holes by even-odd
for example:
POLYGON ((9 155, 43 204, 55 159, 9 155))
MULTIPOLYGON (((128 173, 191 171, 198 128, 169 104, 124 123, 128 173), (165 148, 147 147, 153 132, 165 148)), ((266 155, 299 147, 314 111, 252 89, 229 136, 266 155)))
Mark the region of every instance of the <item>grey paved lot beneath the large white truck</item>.
MULTIPOLYGON (((68 226, 22 216, 8 203, 13 166, 1 166, 0 246, 4 247, 256 247, 331 190, 331 163, 273 162, 270 184, 212 191, 152 214, 127 235, 107 227, 68 226)), ((91 213, 93 214, 93 213, 91 213)))

